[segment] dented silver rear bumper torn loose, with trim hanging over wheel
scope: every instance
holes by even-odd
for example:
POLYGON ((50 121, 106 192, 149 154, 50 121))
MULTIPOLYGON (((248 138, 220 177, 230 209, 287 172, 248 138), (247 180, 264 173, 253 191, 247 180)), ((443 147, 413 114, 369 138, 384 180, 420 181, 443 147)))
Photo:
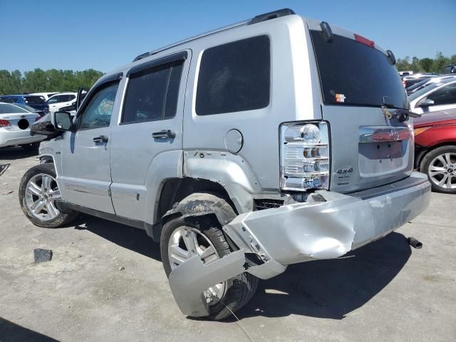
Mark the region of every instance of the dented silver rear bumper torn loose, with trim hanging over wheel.
POLYGON ((207 316, 202 291, 244 271, 269 279, 289 264, 334 259, 384 237, 426 209, 430 183, 413 172, 405 180, 350 195, 317 194, 312 202, 240 214, 224 225, 239 251, 207 265, 194 257, 170 274, 182 313, 207 316), (261 262, 249 263, 249 254, 261 262))

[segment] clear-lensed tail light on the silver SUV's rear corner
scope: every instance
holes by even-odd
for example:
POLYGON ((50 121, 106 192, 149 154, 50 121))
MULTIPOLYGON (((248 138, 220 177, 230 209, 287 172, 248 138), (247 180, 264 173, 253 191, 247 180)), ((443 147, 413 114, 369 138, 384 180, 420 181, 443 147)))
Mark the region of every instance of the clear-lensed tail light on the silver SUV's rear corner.
POLYGON ((281 190, 328 189, 329 130, 325 122, 280 126, 281 190))

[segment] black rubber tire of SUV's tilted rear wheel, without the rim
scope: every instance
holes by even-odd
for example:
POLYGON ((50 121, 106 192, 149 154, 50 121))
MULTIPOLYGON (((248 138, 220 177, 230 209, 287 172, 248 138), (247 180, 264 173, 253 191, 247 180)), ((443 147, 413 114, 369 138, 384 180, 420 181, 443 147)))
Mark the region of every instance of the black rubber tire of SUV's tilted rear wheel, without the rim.
MULTIPOLYGON (((200 234, 203 234, 204 237, 212 243, 219 258, 222 258, 232 252, 227 239, 224 237, 222 229, 219 229, 217 220, 212 219, 212 217, 187 217, 187 219, 184 217, 177 217, 175 219, 171 219, 164 225, 160 237, 162 262, 165 273, 168 277, 172 271, 170 257, 168 254, 170 239, 173 234, 177 232, 178 229, 182 229, 182 227, 190 227, 191 229, 195 229, 195 232, 197 231, 200 234)), ((252 274, 244 272, 243 274, 239 274, 239 276, 235 276, 234 278, 229 279, 229 281, 221 284, 225 284, 222 298, 213 304, 209 303, 209 318, 217 321, 231 316, 232 312, 241 309, 242 306, 247 304, 247 302, 252 299, 255 291, 257 291, 258 278, 252 274)), ((220 284, 217 284, 216 286, 220 286, 220 284)), ((214 287, 215 286, 212 288, 214 287)))

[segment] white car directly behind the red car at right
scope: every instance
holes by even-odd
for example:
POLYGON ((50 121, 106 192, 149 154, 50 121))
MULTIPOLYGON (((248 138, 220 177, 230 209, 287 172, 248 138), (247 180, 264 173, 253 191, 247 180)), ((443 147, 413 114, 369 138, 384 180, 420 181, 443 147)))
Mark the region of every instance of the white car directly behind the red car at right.
POLYGON ((438 83, 431 83, 412 93, 408 100, 410 110, 418 114, 456 108, 456 79, 447 78, 438 83))

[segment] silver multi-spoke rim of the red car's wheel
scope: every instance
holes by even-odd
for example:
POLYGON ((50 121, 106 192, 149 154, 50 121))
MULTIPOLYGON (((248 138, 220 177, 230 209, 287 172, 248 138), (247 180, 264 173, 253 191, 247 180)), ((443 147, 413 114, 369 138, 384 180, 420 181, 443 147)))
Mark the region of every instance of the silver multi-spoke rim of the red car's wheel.
POLYGON ((456 189, 456 153, 437 155, 427 171, 431 182, 444 189, 456 189))

